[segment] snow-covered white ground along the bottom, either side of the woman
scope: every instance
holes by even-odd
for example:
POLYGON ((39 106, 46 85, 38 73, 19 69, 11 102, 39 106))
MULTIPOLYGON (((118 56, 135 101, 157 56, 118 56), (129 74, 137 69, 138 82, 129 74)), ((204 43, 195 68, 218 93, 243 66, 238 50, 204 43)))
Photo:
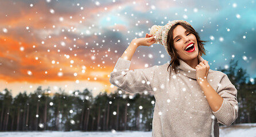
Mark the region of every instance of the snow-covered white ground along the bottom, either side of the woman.
MULTIPOLYGON (((1 137, 80 137, 80 136, 90 136, 90 137, 148 137, 151 136, 152 132, 139 132, 139 131, 124 131, 124 132, 59 132, 59 131, 44 131, 44 132, 0 132, 1 137)), ((246 136, 246 137, 256 137, 256 123, 250 124, 236 124, 232 127, 222 127, 220 128, 220 137, 235 137, 235 136, 246 136)))

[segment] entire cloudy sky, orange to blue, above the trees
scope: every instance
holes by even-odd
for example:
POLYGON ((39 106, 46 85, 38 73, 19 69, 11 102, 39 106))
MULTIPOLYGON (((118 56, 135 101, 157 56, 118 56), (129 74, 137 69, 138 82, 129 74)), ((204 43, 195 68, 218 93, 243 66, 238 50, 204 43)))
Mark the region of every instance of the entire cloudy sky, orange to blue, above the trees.
MULTIPOLYGON (((134 38, 153 25, 182 19, 207 41, 204 59, 212 70, 231 59, 256 78, 255 1, 1 1, 0 91, 113 92, 115 63, 134 38)), ((170 61, 164 46, 139 46, 130 70, 170 61)))

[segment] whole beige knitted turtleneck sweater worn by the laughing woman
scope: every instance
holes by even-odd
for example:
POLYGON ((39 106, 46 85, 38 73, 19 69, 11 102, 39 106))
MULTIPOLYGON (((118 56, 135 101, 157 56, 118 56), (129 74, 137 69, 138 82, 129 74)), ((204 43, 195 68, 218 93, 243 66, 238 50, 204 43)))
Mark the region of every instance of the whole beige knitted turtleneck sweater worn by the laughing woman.
MULTIPOLYGON (((203 60, 199 56, 199 62, 203 60)), ((223 72, 209 70, 208 82, 224 99, 214 112, 196 81, 196 70, 179 62, 177 74, 169 74, 169 63, 129 70, 131 61, 119 58, 110 83, 131 93, 153 92, 152 136, 219 136, 219 123, 229 126, 238 117, 235 86, 223 72)))

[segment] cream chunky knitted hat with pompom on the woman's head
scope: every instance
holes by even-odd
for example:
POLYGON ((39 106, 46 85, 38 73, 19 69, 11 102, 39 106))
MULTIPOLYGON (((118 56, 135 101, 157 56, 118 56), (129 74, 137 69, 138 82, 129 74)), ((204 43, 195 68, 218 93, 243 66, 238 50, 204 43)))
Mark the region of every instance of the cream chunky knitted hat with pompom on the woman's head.
MULTIPOLYGON (((154 25, 151 27, 150 29, 150 33, 151 35, 154 35, 154 38, 156 39, 157 43, 160 43, 161 45, 163 45, 165 47, 165 50, 168 52, 168 46, 167 46, 167 37, 168 37, 168 33, 169 30, 172 26, 176 25, 177 23, 184 23, 186 25, 191 26, 188 22, 186 21, 182 21, 182 20, 174 20, 171 22, 168 22, 165 26, 157 26, 154 25)), ((192 27, 192 26, 191 26, 192 27)), ((170 54, 169 54, 170 55, 170 54)))

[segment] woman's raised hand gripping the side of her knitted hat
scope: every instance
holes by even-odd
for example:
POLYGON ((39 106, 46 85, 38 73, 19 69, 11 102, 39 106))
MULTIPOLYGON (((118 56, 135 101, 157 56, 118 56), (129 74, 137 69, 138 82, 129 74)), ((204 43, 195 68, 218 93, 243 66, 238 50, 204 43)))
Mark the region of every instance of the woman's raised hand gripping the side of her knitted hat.
POLYGON ((133 39, 131 42, 137 46, 151 46, 156 42, 156 39, 154 39, 153 35, 147 33, 145 38, 133 39))

